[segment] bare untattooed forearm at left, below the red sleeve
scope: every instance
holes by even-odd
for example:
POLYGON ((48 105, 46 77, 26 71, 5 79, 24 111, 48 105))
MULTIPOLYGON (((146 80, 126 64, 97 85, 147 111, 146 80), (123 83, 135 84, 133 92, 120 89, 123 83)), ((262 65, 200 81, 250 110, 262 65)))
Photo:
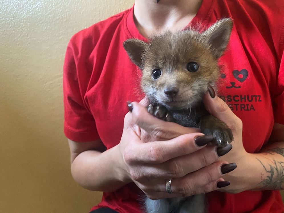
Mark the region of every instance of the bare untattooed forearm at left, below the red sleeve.
POLYGON ((130 182, 117 156, 117 147, 80 153, 71 164, 74 180, 88 190, 113 192, 130 182))

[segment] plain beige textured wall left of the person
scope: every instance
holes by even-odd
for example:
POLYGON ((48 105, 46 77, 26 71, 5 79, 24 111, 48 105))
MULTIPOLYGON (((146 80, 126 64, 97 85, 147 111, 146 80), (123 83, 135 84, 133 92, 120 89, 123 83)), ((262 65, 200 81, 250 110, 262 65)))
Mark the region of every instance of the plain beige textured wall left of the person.
POLYGON ((133 0, 0 1, 0 212, 88 212, 70 175, 62 66, 70 37, 133 0))

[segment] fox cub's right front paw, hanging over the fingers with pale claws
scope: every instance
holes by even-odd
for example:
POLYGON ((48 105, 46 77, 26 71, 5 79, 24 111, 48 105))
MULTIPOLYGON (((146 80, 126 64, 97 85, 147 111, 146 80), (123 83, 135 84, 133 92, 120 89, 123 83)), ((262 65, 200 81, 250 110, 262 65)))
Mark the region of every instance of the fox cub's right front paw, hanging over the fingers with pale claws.
POLYGON ((232 130, 212 115, 201 119, 200 130, 205 135, 213 135, 213 143, 218 147, 225 147, 234 140, 232 130))

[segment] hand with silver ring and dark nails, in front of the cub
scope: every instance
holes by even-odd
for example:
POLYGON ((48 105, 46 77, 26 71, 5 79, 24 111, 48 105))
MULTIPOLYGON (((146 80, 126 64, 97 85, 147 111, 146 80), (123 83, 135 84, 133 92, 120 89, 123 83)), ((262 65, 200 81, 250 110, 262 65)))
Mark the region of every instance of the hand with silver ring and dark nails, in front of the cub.
POLYGON ((119 143, 128 182, 135 182, 151 199, 190 196, 229 184, 222 176, 235 169, 235 165, 218 159, 232 147, 217 150, 206 145, 212 136, 157 119, 145 109, 145 100, 141 104, 131 103, 132 112, 125 116, 119 143), (145 133, 141 134, 143 130, 145 133), (166 192, 168 178, 172 178, 173 194, 166 192))

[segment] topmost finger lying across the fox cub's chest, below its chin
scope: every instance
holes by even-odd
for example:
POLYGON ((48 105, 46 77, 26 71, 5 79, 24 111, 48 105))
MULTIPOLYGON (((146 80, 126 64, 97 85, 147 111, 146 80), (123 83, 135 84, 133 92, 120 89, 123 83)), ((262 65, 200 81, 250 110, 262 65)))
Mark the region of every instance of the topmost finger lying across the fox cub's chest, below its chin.
POLYGON ((178 125, 177 123, 163 121, 148 113, 147 109, 132 102, 132 119, 134 122, 144 129, 154 140, 168 140, 182 134, 199 132, 198 128, 188 128, 178 125))

